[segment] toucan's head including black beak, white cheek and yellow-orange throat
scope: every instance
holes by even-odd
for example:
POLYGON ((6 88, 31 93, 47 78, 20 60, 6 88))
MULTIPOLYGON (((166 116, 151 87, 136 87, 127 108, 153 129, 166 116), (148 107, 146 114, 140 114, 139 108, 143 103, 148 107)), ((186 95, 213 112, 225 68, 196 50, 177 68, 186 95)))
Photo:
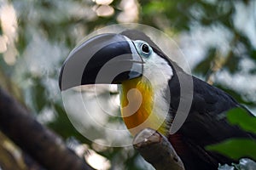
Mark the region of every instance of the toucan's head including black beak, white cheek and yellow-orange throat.
POLYGON ((166 92, 173 71, 170 60, 149 37, 141 31, 127 30, 102 34, 80 44, 62 66, 59 84, 61 90, 86 84, 121 84, 126 127, 132 131, 143 124, 131 132, 135 134, 144 127, 159 129, 166 119, 166 92), (140 93, 131 90, 134 88, 140 93))

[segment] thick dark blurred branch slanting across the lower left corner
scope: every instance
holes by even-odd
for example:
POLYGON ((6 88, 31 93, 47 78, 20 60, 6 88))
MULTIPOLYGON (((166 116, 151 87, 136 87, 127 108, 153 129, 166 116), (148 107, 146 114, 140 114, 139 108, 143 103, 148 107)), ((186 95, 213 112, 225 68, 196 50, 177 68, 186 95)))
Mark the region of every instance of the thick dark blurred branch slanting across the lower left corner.
POLYGON ((1 88, 0 129, 47 169, 93 169, 1 88))

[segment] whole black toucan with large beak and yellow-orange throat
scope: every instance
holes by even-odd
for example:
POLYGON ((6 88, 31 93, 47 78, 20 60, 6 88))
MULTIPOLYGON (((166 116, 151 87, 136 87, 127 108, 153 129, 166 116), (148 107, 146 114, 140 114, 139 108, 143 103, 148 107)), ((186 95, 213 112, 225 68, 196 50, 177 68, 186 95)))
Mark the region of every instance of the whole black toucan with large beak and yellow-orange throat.
POLYGON ((225 117, 226 111, 246 109, 244 106, 223 90, 183 71, 143 31, 91 37, 74 48, 61 67, 61 91, 106 83, 119 85, 120 110, 131 134, 151 127, 166 135, 187 170, 218 169, 218 163, 234 161, 206 150, 209 144, 230 138, 256 139, 230 125, 225 117), (192 92, 187 88, 190 83, 192 92), (189 96, 187 113, 178 111, 189 96), (184 122, 176 133, 170 133, 178 114, 186 116, 184 122))

